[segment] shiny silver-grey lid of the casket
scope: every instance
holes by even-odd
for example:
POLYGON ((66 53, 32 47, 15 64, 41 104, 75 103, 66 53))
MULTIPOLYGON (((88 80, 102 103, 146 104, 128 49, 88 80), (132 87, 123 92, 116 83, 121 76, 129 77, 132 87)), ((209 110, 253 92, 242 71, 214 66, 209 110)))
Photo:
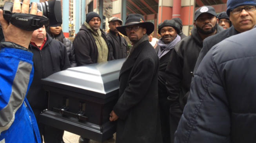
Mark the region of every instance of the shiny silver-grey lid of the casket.
POLYGON ((73 92, 108 94, 119 88, 119 72, 125 59, 72 67, 42 79, 43 85, 73 92))

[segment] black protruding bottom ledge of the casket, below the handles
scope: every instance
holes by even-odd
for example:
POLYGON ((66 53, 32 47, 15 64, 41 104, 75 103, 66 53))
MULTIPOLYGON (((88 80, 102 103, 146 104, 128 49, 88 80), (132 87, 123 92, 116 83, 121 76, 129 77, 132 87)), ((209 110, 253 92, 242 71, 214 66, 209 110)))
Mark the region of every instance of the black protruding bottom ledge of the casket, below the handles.
POLYGON ((103 125, 81 123, 76 118, 63 117, 62 114, 49 110, 40 114, 40 122, 99 142, 109 139, 116 132, 114 122, 105 122, 103 125))

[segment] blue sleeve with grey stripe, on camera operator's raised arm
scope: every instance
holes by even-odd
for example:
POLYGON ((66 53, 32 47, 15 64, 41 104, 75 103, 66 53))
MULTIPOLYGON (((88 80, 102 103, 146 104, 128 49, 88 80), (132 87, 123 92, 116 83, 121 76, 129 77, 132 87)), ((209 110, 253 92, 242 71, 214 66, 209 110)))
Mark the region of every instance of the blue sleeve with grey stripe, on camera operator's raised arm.
POLYGON ((33 53, 15 48, 0 50, 0 133, 9 129, 33 79, 33 53))

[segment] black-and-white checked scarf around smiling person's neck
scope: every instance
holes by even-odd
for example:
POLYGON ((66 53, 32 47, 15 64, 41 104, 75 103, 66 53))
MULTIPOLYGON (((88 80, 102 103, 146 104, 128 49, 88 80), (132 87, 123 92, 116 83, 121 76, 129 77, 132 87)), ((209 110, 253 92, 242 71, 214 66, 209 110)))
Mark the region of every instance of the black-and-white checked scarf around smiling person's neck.
POLYGON ((158 46, 159 46, 159 48, 158 48, 158 53, 157 53, 159 59, 160 59, 162 56, 164 56, 166 53, 168 53, 172 48, 174 48, 174 46, 175 46, 179 41, 180 41, 180 36, 179 36, 178 34, 177 34, 176 38, 175 38, 172 42, 170 42, 170 43, 168 43, 168 44, 165 44, 165 43, 163 42, 162 38, 159 39, 158 42, 157 42, 157 44, 158 44, 158 46))

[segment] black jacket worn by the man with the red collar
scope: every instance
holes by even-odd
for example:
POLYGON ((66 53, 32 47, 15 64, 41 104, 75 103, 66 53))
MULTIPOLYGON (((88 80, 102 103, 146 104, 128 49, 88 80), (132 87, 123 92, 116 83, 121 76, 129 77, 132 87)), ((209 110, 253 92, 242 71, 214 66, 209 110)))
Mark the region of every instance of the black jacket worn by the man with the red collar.
POLYGON ((32 109, 47 108, 48 96, 42 88, 41 79, 70 67, 65 46, 60 41, 53 40, 48 34, 46 37, 42 50, 32 44, 29 45, 34 54, 34 79, 27 94, 32 109))

